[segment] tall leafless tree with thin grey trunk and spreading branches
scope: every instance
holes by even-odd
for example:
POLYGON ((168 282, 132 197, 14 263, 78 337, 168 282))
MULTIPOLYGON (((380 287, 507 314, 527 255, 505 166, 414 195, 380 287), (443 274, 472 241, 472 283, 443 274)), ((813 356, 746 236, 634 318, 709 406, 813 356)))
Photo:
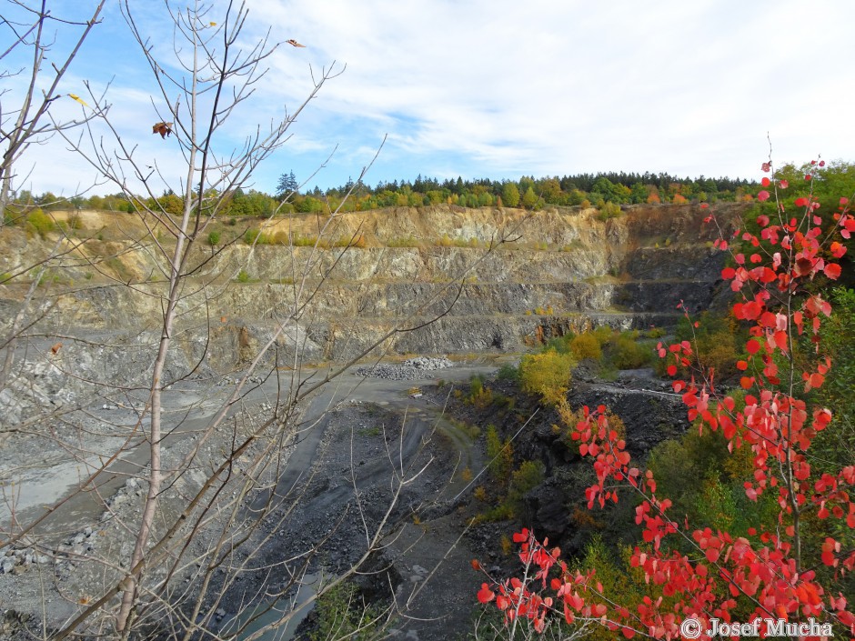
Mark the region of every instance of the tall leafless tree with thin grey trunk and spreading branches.
MULTIPOLYGON (((105 510, 106 516, 115 519, 116 526, 121 526, 128 533, 126 539, 123 539, 128 542, 128 546, 117 552, 116 557, 81 560, 81 563, 101 564, 101 585, 92 586, 91 598, 87 595, 84 600, 75 603, 75 615, 60 626, 61 629, 55 633, 57 640, 90 632, 107 637, 115 637, 118 633, 117 636, 127 638, 136 634, 144 624, 174 626, 170 634, 175 633, 178 638, 190 638, 200 630, 205 634, 219 634, 210 625, 214 610, 208 606, 211 601, 219 603, 227 599, 241 574, 254 569, 252 565, 257 560, 253 556, 254 549, 246 558, 241 557, 246 551, 246 541, 250 536, 257 535, 264 543, 270 543, 277 526, 287 521, 289 511, 295 509, 300 500, 298 494, 287 496, 288 502, 285 496, 277 496, 277 482, 283 465, 280 457, 282 448, 295 440, 302 430, 312 428, 298 425, 298 404, 342 375, 347 366, 353 365, 358 358, 374 352, 380 346, 389 345, 402 332, 427 325, 430 320, 423 317, 427 315, 426 310, 445 297, 456 300, 455 294, 460 293, 460 280, 468 273, 465 271, 458 275, 458 280, 439 288, 428 300, 415 302, 412 309, 408 310, 411 313, 400 315, 397 326, 383 336, 378 336, 376 341, 365 346, 349 362, 330 367, 326 375, 319 373, 314 377, 304 376, 301 371, 302 347, 299 345, 304 319, 311 314, 313 305, 317 304, 317 298, 341 260, 338 255, 331 267, 324 265, 323 256, 319 252, 322 235, 336 237, 335 224, 339 212, 329 211, 327 223, 320 225, 319 222, 317 244, 308 252, 302 265, 297 266, 297 252, 293 246, 290 248, 294 269, 291 292, 293 302, 289 299, 284 310, 274 305, 269 315, 266 312, 268 318, 276 320, 269 336, 259 340, 258 349, 251 355, 249 366, 239 377, 234 389, 216 396, 219 405, 211 410, 213 414, 206 415, 204 423, 199 421, 202 425, 198 426, 194 435, 194 444, 189 447, 187 454, 182 453, 180 460, 175 462, 170 456, 171 448, 165 446, 165 439, 171 437, 170 432, 175 428, 168 413, 172 395, 167 391, 167 386, 175 382, 170 359, 181 346, 181 333, 199 329, 194 325, 196 320, 186 320, 186 308, 198 305, 207 314, 209 300, 216 297, 213 290, 222 288, 225 291, 227 286, 222 285, 221 276, 230 280, 236 275, 236 268, 229 277, 224 272, 231 266, 216 265, 221 249, 215 250, 212 245, 211 255, 207 255, 204 247, 196 254, 193 254, 193 250, 199 247, 198 240, 204 237, 210 229, 209 225, 213 225, 216 216, 222 213, 230 195, 246 186, 257 165, 284 145, 291 122, 322 85, 338 72, 334 65, 325 69, 317 80, 313 77, 314 88, 295 113, 282 115, 281 121, 274 123, 268 134, 250 136, 244 147, 224 156, 217 147, 223 145, 217 135, 225 131, 226 121, 230 117, 238 116, 237 108, 252 95, 257 78, 265 73, 260 65, 276 50, 277 45, 268 45, 267 40, 262 38, 256 48, 247 51, 243 39, 238 44, 238 35, 246 20, 243 5, 229 3, 226 18, 217 15, 215 21, 210 19, 212 16, 206 15, 210 6, 196 4, 190 9, 176 11, 175 7, 165 2, 163 11, 171 17, 176 29, 176 42, 180 46, 176 45, 174 51, 180 59, 177 65, 175 61, 158 62, 148 39, 141 34, 131 15, 130 6, 129 2, 122 4, 131 35, 140 45, 141 55, 151 67, 160 88, 160 95, 153 99, 159 110, 158 117, 174 122, 175 135, 168 138, 165 144, 172 145, 170 153, 182 155, 182 162, 186 163, 186 175, 180 184, 170 184, 156 170, 151 171, 149 167, 156 165, 156 159, 141 157, 135 145, 126 143, 111 124, 105 105, 97 102, 93 112, 116 136, 116 151, 106 151, 106 146, 100 142, 95 143, 94 149, 84 150, 79 147, 79 141, 65 138, 107 181, 122 190, 127 201, 137 208, 137 225, 141 225, 139 228, 145 231, 129 237, 128 245, 134 251, 146 253, 150 265, 154 265, 151 267, 152 272, 162 274, 166 285, 163 285, 164 291, 157 289, 157 283, 142 282, 145 279, 135 282, 133 278, 128 278, 126 282, 119 283, 114 278, 117 291, 123 295, 134 293, 156 298, 160 305, 157 318, 159 336, 151 339, 151 347, 146 346, 146 366, 150 365, 152 369, 150 377, 146 376, 144 382, 138 383, 135 378, 133 383, 109 380, 96 383, 99 389, 117 390, 117 394, 125 393, 132 401, 136 399, 133 393, 138 390, 141 396, 147 396, 146 404, 143 410, 138 411, 133 427, 126 428, 119 420, 110 426, 125 437, 125 441, 115 450, 109 451, 103 457, 104 460, 99 458, 97 471, 86 478, 78 491, 96 493, 99 488, 93 489, 95 477, 106 471, 108 466, 125 463, 123 459, 136 456, 132 448, 136 445, 135 439, 141 438, 143 434, 145 445, 139 446, 139 449, 146 450, 149 469, 137 468, 125 474, 129 481, 147 483, 147 491, 138 515, 135 511, 133 514, 118 516, 119 511, 111 506, 109 495, 101 497, 100 507, 105 510), (175 69, 183 69, 183 75, 182 72, 170 71, 175 69), (171 75, 173 73, 176 75, 171 75), (178 97, 175 97, 176 94, 178 97), (206 99, 197 101, 197 96, 202 94, 206 95, 206 99), (132 188, 127 184, 126 176, 135 176, 138 185, 132 188), (180 220, 158 204, 158 195, 166 190, 183 196, 180 220), (161 233, 165 238, 161 237, 161 233), (199 275, 203 273, 203 268, 210 265, 214 265, 210 273, 199 275), (247 389, 252 386, 251 377, 261 371, 265 356, 276 351, 277 342, 283 337, 292 339, 294 344, 293 357, 289 356, 290 363, 285 364, 291 370, 289 376, 292 376, 285 382, 287 391, 281 392, 277 387, 276 406, 266 409, 263 415, 236 412, 246 401, 247 389), (150 417, 150 426, 144 433, 142 426, 146 416, 150 417), (210 450, 212 443, 221 447, 222 451, 206 458, 202 446, 205 444, 210 450), (250 459, 248 462, 242 460, 245 456, 250 459), (169 492, 175 491, 177 481, 182 476, 194 472, 201 473, 201 480, 195 480, 195 485, 188 484, 189 489, 182 488, 182 492, 185 492, 182 495, 183 505, 180 509, 170 511, 174 504, 168 503, 169 492), (247 514, 246 504, 257 500, 259 496, 264 505, 257 512, 249 510, 247 514), (205 541, 205 549, 202 551, 195 546, 199 541, 205 541), (187 566, 197 566, 198 572, 187 572, 187 566), (218 573, 220 569, 224 569, 221 580, 218 573), (182 571, 185 574, 182 575, 182 571), (176 577, 184 580, 190 575, 196 579, 196 583, 190 584, 192 587, 176 586, 182 583, 176 577), (121 593, 121 597, 116 598, 117 593, 121 593), (201 616, 201 619, 197 616, 201 616)), ((91 141, 96 139, 95 135, 90 135, 91 141)), ((226 139, 225 145, 228 144, 226 139)), ((360 182, 364 174, 365 170, 359 177, 360 182)), ((354 187, 356 185, 358 183, 354 187)), ((498 239, 496 245, 502 242, 505 242, 505 238, 498 239)), ((283 248, 283 251, 288 250, 283 248)), ((251 249, 246 262, 239 266, 246 266, 252 259, 251 249)), ((92 264, 96 265, 96 262, 92 264)), ((445 309, 431 317, 436 319, 447 313, 448 309, 445 309)), ((15 327, 19 328, 20 325, 18 323, 15 327)), ((214 340, 209 320, 201 326, 201 331, 205 334, 206 343, 214 340)), ((11 356, 7 353, 6 358, 11 356)), ((204 358, 198 357, 196 366, 204 358)), ((267 371, 268 376, 279 376, 277 366, 280 365, 280 361, 274 360, 267 371)), ((191 413, 188 411, 188 415, 191 413)), ((84 421, 81 421, 81 425, 86 426, 84 421)), ((401 438, 403 442, 403 436, 401 438)), ((59 441, 59 437, 56 437, 56 442, 59 441)), ((82 447, 74 451, 79 461, 86 466, 90 465, 86 458, 90 452, 85 452, 82 447)), ((343 572, 335 583, 354 575, 372 552, 382 547, 384 536, 395 523, 393 514, 398 499, 407 487, 416 483, 423 472, 423 468, 405 461, 403 455, 397 456, 395 460, 396 456, 389 453, 388 458, 389 504, 380 510, 381 514, 373 529, 369 526, 369 519, 363 515, 361 521, 365 536, 360 541, 357 562, 343 572)), ((356 474, 351 480, 354 495, 357 496, 356 509, 364 510, 365 503, 359 496, 356 474)), ((32 524, 30 529, 23 530, 30 531, 32 524)), ((16 536, 20 538, 23 535, 18 533, 16 536)), ((281 572, 291 577, 282 589, 282 595, 288 587, 296 585, 301 573, 306 571, 325 542, 326 539, 312 541, 300 558, 277 559, 267 566, 268 571, 281 572)), ((292 615, 292 612, 287 612, 267 627, 280 626, 292 615)), ((253 636, 259 634, 254 633, 253 636)))

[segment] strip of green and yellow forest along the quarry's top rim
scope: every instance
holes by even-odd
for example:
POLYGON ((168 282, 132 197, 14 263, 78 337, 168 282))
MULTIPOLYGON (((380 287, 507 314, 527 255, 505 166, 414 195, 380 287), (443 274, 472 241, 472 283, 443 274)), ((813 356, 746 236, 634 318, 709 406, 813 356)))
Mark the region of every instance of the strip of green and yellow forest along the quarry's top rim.
MULTIPOLYGON (((808 195, 811 190, 815 194, 855 195, 855 163, 832 161, 822 175, 812 182, 804 180, 804 175, 809 172, 810 164, 786 164, 776 169, 775 176, 790 185, 782 197, 794 199, 808 195)), ((605 208, 610 215, 616 215, 619 211, 616 205, 752 202, 762 189, 758 181, 745 178, 709 178, 703 175, 679 178, 649 172, 576 174, 560 178, 522 176, 517 181, 490 178, 464 180, 458 177, 441 182, 437 178, 418 175, 412 181, 380 182, 374 187, 351 181, 326 191, 317 186, 306 190, 304 186, 293 171, 283 173, 274 194, 256 189, 236 189, 228 195, 225 203, 220 203, 216 215, 267 217, 427 205, 458 205, 467 208, 507 206, 531 210, 547 205, 594 206, 605 208)), ((212 200, 215 195, 211 193, 212 200)), ((172 192, 157 197, 140 195, 138 200, 135 205, 121 193, 63 198, 50 192, 35 195, 22 190, 15 194, 13 206, 17 205, 20 213, 34 207, 43 210, 76 208, 126 212, 148 207, 172 215, 180 215, 184 206, 181 196, 172 192)), ((7 212, 6 217, 10 216, 15 215, 7 212)))

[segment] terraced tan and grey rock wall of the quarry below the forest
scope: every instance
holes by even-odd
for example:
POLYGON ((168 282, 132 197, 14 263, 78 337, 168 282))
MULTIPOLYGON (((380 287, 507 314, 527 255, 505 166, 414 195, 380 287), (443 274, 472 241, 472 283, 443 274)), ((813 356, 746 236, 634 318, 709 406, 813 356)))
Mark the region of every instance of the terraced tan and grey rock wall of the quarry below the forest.
MULTIPOLYGON (((719 219, 740 206, 720 205, 719 219)), ((658 315, 675 314, 680 300, 704 308, 719 295, 723 256, 711 246, 715 229, 702 225, 708 213, 639 205, 600 221, 593 209, 395 208, 338 216, 321 236, 327 248, 238 241, 212 257, 210 247, 198 246, 188 256, 194 271, 179 305, 174 373, 198 357, 216 370, 239 366, 270 340, 291 356, 344 358, 395 326, 412 331, 382 347, 449 353, 515 351, 534 336, 604 323, 664 322, 668 317, 658 315), (350 237, 364 246, 334 246, 350 237), (248 282, 237 282, 240 270, 248 282)), ((130 238, 145 229, 126 214, 85 213, 83 220, 120 227, 130 238)), ((265 233, 280 241, 305 239, 326 223, 300 216, 267 225, 265 233)), ((95 236, 87 231, 78 236, 95 236)), ((126 342, 144 336, 146 348, 159 336, 164 261, 150 238, 142 246, 117 236, 92 237, 56 262, 47 285, 38 288, 49 298, 40 323, 45 331, 109 333, 126 342), (133 286, 123 285, 128 282, 133 286)), ((59 246, 72 250, 76 242, 59 246)), ((2 230, 0 272, 15 274, 55 243, 2 230)), ((0 285, 5 317, 23 298, 26 280, 0 285)), ((128 357, 133 353, 126 350, 128 357)))

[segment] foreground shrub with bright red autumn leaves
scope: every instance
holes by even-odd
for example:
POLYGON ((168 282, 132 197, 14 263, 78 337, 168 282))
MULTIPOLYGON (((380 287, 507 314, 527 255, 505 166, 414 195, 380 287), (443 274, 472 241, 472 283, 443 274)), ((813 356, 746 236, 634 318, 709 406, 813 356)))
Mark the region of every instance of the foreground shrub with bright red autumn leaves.
MULTIPOLYGON (((815 171, 823 165, 816 163, 815 171)), ((523 576, 499 580, 485 573, 478 592, 478 601, 498 606, 508 626, 524 619, 541 632, 561 619, 581 619, 615 636, 673 639, 682 638, 680 624, 689 617, 699 619, 701 630, 712 618, 810 618, 833 624, 836 637, 855 637, 853 608, 840 590, 855 570, 855 465, 829 470, 810 451, 831 422, 830 409, 815 405, 811 395, 833 366, 820 342, 832 308, 819 285, 840 277, 855 217, 845 197, 829 215, 820 215, 813 195, 785 205, 789 184, 774 177, 771 163, 762 169, 769 176, 758 199, 775 203, 775 214, 728 234, 721 226, 717 243, 732 256, 721 273, 738 299, 732 314, 748 327, 736 363, 741 390, 722 393, 716 371, 699 362, 691 340, 659 344, 657 351, 669 376, 689 372, 672 381, 689 420, 721 434, 731 456, 748 451, 745 495, 754 503, 768 500, 775 516, 736 534, 672 514, 653 473, 633 464, 609 426, 606 407, 585 407, 572 438, 596 473, 586 490, 588 508, 617 503, 627 493, 638 502, 642 541, 629 556, 629 571, 643 581, 646 596, 622 605, 621 595, 603 594, 595 570, 574 571, 558 548, 523 529, 514 535, 523 576)), ((719 225, 714 215, 706 222, 719 225)), ((768 632, 759 625, 760 636, 768 632)))

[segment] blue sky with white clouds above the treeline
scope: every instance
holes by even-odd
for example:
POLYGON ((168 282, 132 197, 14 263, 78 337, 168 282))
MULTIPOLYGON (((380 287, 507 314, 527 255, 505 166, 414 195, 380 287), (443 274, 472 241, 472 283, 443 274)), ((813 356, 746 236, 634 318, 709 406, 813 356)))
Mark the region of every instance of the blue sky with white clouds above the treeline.
MULTIPOLYGON (((77 11, 82 0, 55 3, 77 11)), ((158 54, 171 31, 156 0, 131 0, 158 54)), ((179 3, 180 5, 180 3, 179 3)), ((223 3, 211 21, 223 20, 223 3)), ((366 182, 666 171, 758 177, 776 162, 855 160, 855 3, 730 0, 247 0, 246 42, 268 27, 280 47, 236 115, 236 133, 305 99, 315 74, 347 64, 253 176, 270 192, 294 171, 322 188, 366 182)), ((62 41, 60 41, 62 44, 62 41)), ((7 63, 8 64, 8 63, 7 63)), ((111 0, 62 91, 105 90, 116 129, 166 173, 180 155, 152 136, 163 98, 111 0)), ((4 81, 15 87, 15 80, 4 81)), ((14 91, 3 96, 4 109, 14 91)), ((57 118, 79 115, 71 100, 57 118)), ((107 141, 109 143, 109 141, 107 141)), ((234 145, 235 141, 222 141, 234 145)), ((19 188, 64 195, 94 172, 61 140, 32 149, 19 188)), ((223 148, 226 148, 224 146, 223 148)), ((116 191, 110 185, 96 192, 116 191)))

